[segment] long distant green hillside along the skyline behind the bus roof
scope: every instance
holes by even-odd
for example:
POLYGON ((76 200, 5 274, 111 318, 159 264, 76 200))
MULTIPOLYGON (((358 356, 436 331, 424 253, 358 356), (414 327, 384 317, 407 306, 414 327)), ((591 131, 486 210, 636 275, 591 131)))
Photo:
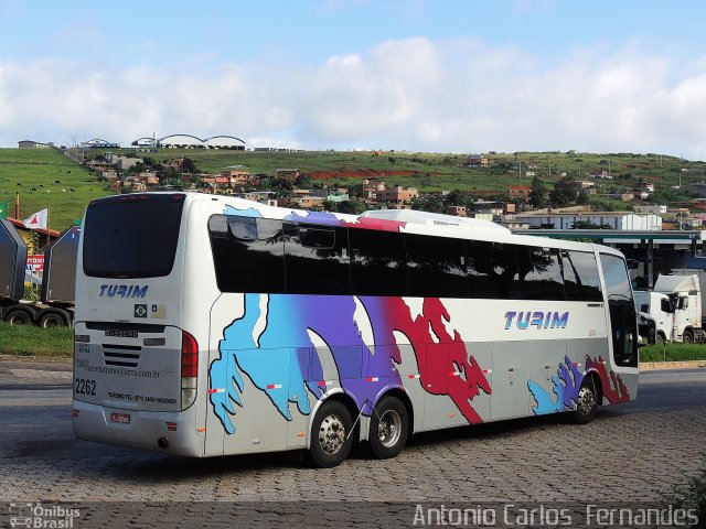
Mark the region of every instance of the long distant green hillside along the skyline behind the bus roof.
MULTIPOLYGON (((468 168, 468 155, 418 152, 370 152, 370 151, 302 151, 302 152, 254 152, 202 149, 160 149, 154 153, 136 153, 121 149, 122 154, 148 155, 156 161, 168 161, 178 156, 193 160, 199 170, 222 172, 228 169, 245 169, 252 173, 275 174, 277 169, 299 169, 301 173, 325 176, 330 182, 360 184, 368 175, 384 177, 388 184, 415 185, 422 192, 507 188, 509 185, 528 184, 532 173, 549 185, 566 172, 574 179, 586 179, 589 174, 609 173, 612 180, 598 181, 602 192, 619 192, 632 188, 639 181, 653 182, 671 187, 705 179, 706 163, 689 162, 676 156, 631 153, 578 153, 569 152, 515 152, 488 153, 489 168, 468 168), (691 169, 693 172, 683 172, 691 169), (520 176, 522 171, 522 176, 520 176), (399 175, 396 173, 410 173, 399 175), (527 176, 527 172, 531 173, 527 176), (353 174, 355 173, 355 174, 353 174), (384 174, 384 176, 383 176, 384 174)), ((314 179, 317 180, 317 179, 314 179)))

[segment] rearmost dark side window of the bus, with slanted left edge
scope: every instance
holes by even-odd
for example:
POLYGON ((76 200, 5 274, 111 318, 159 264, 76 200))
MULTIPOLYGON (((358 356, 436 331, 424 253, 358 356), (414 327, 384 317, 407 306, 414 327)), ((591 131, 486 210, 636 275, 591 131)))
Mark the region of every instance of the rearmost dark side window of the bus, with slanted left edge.
POLYGON ((281 220, 214 215, 208 234, 222 292, 285 292, 281 220))

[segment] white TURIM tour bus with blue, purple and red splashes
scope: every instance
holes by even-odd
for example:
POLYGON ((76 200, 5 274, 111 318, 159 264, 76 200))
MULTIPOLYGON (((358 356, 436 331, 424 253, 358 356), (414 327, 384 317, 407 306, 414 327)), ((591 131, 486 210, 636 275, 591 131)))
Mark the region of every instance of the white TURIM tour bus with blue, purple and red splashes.
MULTIPOLYGON (((635 398, 623 256, 420 212, 357 217, 196 193, 96 199, 78 253, 79 439, 212 456, 635 398)), ((654 330, 652 328, 652 333, 654 330)))

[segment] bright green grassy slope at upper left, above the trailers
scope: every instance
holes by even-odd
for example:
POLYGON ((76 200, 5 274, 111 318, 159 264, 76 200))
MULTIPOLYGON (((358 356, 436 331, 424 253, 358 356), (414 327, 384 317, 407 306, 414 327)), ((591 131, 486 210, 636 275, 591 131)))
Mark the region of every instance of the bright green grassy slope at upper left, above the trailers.
POLYGON ((106 187, 56 149, 0 149, 0 202, 8 201, 9 216, 19 193, 20 218, 49 207, 50 228, 62 231, 93 198, 111 194, 106 187))

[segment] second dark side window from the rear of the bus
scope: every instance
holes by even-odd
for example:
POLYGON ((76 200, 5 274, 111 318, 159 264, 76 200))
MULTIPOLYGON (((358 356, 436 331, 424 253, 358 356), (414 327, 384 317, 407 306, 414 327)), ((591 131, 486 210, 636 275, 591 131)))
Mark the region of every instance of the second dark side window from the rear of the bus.
POLYGON ((350 293, 345 228, 286 223, 285 263, 288 293, 350 293))

